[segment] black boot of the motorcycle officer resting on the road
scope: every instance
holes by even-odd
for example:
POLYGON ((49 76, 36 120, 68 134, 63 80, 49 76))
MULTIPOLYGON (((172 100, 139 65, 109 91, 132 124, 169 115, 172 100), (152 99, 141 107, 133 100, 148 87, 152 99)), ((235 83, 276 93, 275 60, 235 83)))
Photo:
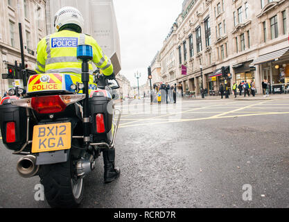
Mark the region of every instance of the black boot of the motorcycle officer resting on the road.
POLYGON ((114 167, 115 149, 109 149, 103 151, 103 163, 105 165, 105 183, 112 182, 119 177, 121 170, 114 167))

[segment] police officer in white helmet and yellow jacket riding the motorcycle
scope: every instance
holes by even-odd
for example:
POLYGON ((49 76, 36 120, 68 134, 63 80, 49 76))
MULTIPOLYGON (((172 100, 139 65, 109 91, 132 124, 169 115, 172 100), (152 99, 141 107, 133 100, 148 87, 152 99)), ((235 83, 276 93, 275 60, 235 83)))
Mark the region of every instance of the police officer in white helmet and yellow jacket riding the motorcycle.
MULTIPOLYGON (((78 44, 89 44, 93 49, 92 62, 102 70, 105 78, 114 79, 112 63, 93 37, 82 33, 85 21, 80 11, 63 7, 54 17, 55 33, 44 37, 37 46, 37 74, 65 73, 81 76, 82 62, 77 60, 78 44)), ((89 84, 93 84, 93 67, 89 63, 89 84)), ((115 150, 103 151, 104 180, 112 182, 119 177, 120 169, 114 167, 115 150)))

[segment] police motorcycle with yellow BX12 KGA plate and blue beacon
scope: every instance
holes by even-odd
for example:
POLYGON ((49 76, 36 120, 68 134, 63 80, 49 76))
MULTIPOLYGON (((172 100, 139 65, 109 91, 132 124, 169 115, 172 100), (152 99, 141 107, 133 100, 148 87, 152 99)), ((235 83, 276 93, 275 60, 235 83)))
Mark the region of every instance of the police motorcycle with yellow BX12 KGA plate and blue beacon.
POLYGON ((11 96, 0 105, 3 144, 13 154, 24 155, 17 162, 19 175, 40 176, 51 207, 80 204, 83 178, 95 169, 101 151, 114 148, 121 118, 121 111, 114 108, 116 79, 96 71, 98 88, 89 85, 92 48, 79 45, 77 51, 81 78, 30 76, 24 96, 11 96))

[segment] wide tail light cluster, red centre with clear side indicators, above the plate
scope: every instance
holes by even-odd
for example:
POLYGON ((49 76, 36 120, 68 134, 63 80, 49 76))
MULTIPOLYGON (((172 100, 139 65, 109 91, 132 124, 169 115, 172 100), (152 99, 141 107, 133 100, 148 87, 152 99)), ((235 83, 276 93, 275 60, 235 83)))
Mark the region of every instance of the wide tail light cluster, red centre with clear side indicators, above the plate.
POLYGON ((39 96, 11 101, 11 104, 24 108, 33 108, 41 114, 48 114, 62 112, 67 108, 67 105, 76 103, 82 99, 85 99, 85 94, 39 96))

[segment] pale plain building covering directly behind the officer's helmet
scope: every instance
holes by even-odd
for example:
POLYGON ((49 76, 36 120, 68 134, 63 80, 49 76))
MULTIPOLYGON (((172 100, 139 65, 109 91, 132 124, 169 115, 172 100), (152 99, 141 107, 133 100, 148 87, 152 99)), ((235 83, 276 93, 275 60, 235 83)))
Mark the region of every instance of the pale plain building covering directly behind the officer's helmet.
POLYGON ((64 6, 78 8, 85 19, 85 27, 82 33, 94 37, 100 48, 108 58, 116 56, 112 60, 114 71, 121 71, 121 46, 119 41, 119 29, 114 12, 112 0, 46 0, 47 31, 53 33, 54 15, 64 6))

